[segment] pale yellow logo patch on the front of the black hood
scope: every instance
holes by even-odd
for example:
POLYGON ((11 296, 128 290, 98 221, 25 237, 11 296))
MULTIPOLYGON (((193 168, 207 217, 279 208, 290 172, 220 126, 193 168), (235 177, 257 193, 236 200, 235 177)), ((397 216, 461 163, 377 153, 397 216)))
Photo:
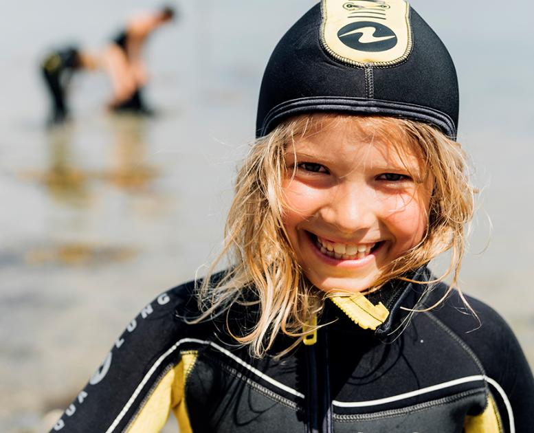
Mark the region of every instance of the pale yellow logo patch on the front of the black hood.
POLYGON ((412 51, 408 3, 403 0, 322 0, 321 42, 348 65, 393 66, 412 51))

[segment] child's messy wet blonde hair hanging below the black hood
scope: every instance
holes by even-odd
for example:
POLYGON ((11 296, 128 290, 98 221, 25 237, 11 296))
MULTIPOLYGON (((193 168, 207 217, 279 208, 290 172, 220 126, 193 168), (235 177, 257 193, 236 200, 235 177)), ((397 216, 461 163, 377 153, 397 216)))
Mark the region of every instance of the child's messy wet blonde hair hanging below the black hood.
MULTIPOLYGON (((238 171, 223 249, 198 287, 203 314, 195 322, 227 313, 234 303, 256 305, 256 324, 243 334, 233 335, 238 343, 248 345, 256 357, 265 355, 279 333, 302 337, 302 326, 320 311, 326 297, 307 281, 285 232, 282 183, 296 168, 286 166, 285 154, 291 151, 289 146, 296 138, 335 127, 337 120, 346 118, 391 144, 399 155, 405 155, 407 150, 418 155, 423 173, 432 175, 434 183, 423 239, 382 269, 379 280, 368 291, 379 289, 392 278, 408 280, 406 274, 445 251, 450 252, 449 266, 432 282, 451 276, 450 289, 458 287, 465 225, 474 208, 474 188, 460 144, 434 126, 412 120, 341 114, 291 118, 252 143, 238 171), (229 259, 230 269, 212 282, 223 258, 229 259)), ((293 346, 299 341, 296 339, 293 346)))

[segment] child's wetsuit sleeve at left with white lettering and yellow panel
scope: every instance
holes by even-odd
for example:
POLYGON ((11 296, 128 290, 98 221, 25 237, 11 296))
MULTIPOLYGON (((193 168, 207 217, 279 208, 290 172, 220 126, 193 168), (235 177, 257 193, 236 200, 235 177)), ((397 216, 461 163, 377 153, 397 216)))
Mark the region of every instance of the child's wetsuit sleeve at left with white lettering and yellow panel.
POLYGON ((170 410, 190 431, 183 389, 196 357, 177 344, 187 326, 175 313, 182 298, 173 289, 142 309, 51 432, 159 432, 170 410))

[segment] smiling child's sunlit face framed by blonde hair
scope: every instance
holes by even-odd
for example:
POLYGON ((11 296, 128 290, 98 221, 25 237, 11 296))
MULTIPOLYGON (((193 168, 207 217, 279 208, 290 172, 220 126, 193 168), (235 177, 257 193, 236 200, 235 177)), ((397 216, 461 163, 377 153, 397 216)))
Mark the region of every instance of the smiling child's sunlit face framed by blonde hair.
POLYGON ((313 119, 322 127, 286 149, 285 230, 315 287, 363 291, 423 239, 432 176, 411 146, 373 136, 365 119, 313 119))

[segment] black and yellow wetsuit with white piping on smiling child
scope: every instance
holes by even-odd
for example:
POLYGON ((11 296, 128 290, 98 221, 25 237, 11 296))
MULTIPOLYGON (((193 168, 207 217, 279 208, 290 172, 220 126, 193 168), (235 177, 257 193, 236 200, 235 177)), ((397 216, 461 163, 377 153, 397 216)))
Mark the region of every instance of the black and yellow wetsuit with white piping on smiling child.
MULTIPOLYGON (((469 298, 478 326, 456 293, 408 318, 401 307, 425 287, 393 282, 370 296, 389 310, 377 331, 328 301, 318 341, 281 360, 250 357, 224 318, 186 324, 198 313, 193 284, 176 287, 129 324, 52 432, 157 432, 170 410, 181 433, 534 432, 534 379, 507 324, 469 298)), ((238 331, 255 316, 236 307, 229 323, 238 331)))

